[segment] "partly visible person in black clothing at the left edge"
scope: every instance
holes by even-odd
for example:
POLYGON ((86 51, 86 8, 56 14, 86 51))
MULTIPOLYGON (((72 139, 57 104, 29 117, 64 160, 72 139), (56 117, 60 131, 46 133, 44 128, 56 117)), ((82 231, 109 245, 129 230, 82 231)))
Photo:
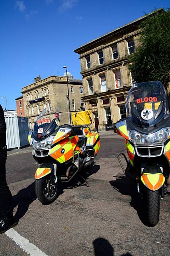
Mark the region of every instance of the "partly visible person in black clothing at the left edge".
POLYGON ((6 123, 0 105, 0 234, 16 225, 13 217, 12 194, 6 183, 6 123))

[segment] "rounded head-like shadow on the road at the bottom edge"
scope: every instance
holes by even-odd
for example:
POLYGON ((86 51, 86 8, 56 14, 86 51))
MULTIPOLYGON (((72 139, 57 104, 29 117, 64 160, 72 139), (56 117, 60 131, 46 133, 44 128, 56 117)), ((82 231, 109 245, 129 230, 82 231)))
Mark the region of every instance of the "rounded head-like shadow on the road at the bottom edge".
MULTIPOLYGON (((104 238, 97 238, 93 241, 95 256, 114 256, 114 249, 111 244, 104 238)), ((132 256, 130 253, 121 256, 132 256)))

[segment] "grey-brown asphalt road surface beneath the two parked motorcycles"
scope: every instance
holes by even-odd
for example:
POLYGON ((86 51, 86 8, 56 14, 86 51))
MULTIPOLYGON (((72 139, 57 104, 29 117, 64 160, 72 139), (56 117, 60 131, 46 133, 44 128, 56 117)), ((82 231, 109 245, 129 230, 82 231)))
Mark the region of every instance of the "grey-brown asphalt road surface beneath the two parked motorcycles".
POLYGON ((12 233, 1 235, 0 256, 170 254, 170 196, 160 202, 159 223, 148 227, 136 185, 123 175, 114 157, 124 151, 123 140, 103 136, 101 145, 88 186, 63 186, 57 200, 48 206, 35 196, 37 164, 30 149, 10 152, 7 180, 19 223, 12 233))

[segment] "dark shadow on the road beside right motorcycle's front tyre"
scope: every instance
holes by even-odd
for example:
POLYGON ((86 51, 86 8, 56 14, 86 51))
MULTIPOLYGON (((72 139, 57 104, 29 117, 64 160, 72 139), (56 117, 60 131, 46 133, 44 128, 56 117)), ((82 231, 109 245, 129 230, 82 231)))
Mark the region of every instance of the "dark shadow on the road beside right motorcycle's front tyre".
POLYGON ((126 176, 115 176, 116 180, 111 180, 110 184, 122 195, 131 196, 130 205, 137 211, 141 222, 148 226, 146 218, 146 209, 141 200, 140 194, 137 192, 137 185, 126 176))

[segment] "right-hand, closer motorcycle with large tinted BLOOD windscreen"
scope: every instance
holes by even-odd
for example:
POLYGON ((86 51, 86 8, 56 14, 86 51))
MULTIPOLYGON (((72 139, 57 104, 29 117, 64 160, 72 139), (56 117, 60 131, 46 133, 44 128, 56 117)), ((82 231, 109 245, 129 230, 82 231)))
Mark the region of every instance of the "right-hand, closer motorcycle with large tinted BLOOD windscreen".
POLYGON ((129 90, 126 108, 128 117, 115 124, 115 131, 125 138, 148 224, 155 226, 160 198, 170 184, 169 97, 159 81, 137 83, 129 90))

